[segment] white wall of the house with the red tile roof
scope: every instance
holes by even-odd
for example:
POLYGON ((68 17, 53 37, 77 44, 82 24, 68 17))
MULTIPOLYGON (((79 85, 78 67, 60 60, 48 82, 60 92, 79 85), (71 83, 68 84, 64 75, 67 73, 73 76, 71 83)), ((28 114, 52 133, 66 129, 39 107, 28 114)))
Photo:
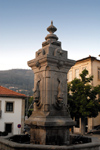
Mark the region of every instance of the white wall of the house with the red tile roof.
POLYGON ((18 129, 17 125, 21 124, 22 121, 22 99, 0 97, 0 101, 2 110, 2 115, 0 118, 0 131, 5 131, 5 123, 12 123, 12 134, 20 133, 21 129, 18 129), (5 111, 6 102, 14 102, 14 112, 5 111))

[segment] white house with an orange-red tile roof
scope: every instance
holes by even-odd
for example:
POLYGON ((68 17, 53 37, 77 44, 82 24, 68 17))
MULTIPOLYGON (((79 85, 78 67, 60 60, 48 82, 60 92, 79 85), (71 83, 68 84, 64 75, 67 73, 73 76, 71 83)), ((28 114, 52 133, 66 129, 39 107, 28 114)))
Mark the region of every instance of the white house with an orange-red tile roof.
POLYGON ((26 95, 0 86, 0 131, 19 134, 24 129, 26 95), (21 128, 18 128, 18 124, 21 128))

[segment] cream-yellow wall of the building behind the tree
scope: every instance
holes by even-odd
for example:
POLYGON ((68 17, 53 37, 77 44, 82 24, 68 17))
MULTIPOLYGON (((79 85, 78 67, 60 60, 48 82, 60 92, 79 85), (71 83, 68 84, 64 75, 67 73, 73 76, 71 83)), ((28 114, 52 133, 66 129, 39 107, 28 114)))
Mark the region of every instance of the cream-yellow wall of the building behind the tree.
MULTIPOLYGON (((91 84, 93 86, 100 85, 100 79, 98 79, 98 68, 100 68, 100 61, 96 59, 84 59, 82 61, 76 62, 76 64, 69 70, 67 74, 68 82, 69 80, 69 74, 72 72, 72 80, 75 78, 75 70, 79 69, 79 74, 82 72, 82 70, 87 69, 89 72, 89 75, 93 75, 93 81, 91 84)), ((94 126, 100 125, 100 113, 96 118, 88 118, 88 131, 91 130, 94 126)), ((81 121, 79 128, 74 127, 74 132, 75 133, 80 133, 81 132, 81 121)))

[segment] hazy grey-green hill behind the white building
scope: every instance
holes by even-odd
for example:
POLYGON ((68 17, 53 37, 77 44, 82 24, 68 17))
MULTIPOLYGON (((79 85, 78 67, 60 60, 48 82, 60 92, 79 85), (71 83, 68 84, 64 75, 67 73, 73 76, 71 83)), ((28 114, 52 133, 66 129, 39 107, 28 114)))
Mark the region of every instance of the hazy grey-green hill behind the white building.
POLYGON ((34 73, 32 70, 27 69, 0 71, 0 86, 32 96, 34 87, 34 73))

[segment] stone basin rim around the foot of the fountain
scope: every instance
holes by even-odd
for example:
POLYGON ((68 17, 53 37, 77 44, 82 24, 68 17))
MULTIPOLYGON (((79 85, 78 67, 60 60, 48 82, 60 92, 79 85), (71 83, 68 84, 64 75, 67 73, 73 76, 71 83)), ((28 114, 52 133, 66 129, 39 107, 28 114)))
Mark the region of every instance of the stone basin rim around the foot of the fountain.
MULTIPOLYGON (((85 137, 87 138, 87 137, 85 137)), ((84 144, 74 144, 70 146, 58 145, 40 145, 40 144, 20 144, 8 140, 9 138, 0 138, 0 150, 100 150, 99 142, 90 142, 84 144)))

